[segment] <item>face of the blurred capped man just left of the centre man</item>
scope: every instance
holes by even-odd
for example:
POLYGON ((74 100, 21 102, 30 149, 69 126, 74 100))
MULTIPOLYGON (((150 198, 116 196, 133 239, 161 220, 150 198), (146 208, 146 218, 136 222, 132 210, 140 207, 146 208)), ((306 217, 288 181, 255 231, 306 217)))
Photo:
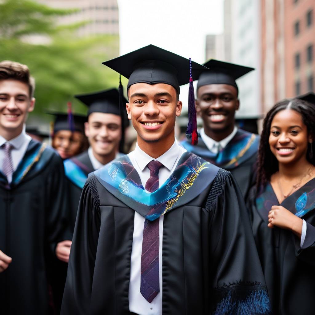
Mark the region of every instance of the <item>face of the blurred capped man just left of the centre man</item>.
POLYGON ((94 153, 106 156, 117 151, 121 139, 120 116, 94 112, 84 125, 85 135, 94 153))

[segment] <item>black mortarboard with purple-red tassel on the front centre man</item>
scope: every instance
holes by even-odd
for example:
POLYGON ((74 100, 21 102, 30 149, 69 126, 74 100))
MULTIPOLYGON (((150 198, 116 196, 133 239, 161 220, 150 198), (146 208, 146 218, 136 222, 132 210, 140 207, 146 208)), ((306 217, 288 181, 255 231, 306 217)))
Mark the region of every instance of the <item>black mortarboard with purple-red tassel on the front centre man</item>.
POLYGON ((103 64, 129 79, 127 90, 135 83, 166 83, 179 93, 180 85, 190 83, 187 133, 191 135, 193 144, 198 142, 192 77, 199 76, 207 70, 206 67, 154 45, 142 47, 103 64))

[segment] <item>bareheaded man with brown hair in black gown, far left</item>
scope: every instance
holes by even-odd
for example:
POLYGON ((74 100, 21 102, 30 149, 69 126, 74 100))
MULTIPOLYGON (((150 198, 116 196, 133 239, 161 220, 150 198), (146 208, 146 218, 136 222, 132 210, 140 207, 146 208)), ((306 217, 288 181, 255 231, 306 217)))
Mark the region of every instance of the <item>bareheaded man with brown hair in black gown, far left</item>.
POLYGON ((0 63, 0 305, 2 314, 48 314, 48 264, 63 232, 64 169, 26 135, 35 105, 27 66, 0 63))

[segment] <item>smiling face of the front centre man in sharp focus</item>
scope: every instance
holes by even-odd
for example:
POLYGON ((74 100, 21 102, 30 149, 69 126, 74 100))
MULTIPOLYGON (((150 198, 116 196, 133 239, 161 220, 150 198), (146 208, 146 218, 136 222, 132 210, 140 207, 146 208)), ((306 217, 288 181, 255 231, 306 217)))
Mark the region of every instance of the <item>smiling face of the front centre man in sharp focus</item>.
POLYGON ((138 137, 146 142, 174 139, 175 118, 180 116, 182 102, 176 90, 165 83, 135 83, 129 88, 128 118, 138 137))

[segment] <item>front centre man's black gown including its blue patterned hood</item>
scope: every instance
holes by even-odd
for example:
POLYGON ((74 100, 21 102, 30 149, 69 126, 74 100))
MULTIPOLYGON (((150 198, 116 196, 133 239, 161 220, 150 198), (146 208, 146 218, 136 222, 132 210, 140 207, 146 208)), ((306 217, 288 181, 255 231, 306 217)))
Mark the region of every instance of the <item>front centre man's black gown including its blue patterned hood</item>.
POLYGON ((268 314, 250 222, 230 173, 206 208, 218 170, 186 152, 151 194, 128 156, 90 174, 79 203, 61 314, 130 314, 135 211, 149 220, 165 212, 163 315, 268 314))

